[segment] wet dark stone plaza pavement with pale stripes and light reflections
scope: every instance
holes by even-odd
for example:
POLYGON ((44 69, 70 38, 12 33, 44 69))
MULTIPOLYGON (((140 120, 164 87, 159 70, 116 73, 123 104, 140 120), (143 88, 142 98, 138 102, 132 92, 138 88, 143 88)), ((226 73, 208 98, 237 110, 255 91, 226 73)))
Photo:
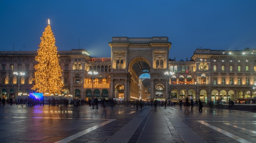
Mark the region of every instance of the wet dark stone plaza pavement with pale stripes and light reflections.
POLYGON ((1 143, 256 143, 256 113, 194 106, 0 106, 1 143))

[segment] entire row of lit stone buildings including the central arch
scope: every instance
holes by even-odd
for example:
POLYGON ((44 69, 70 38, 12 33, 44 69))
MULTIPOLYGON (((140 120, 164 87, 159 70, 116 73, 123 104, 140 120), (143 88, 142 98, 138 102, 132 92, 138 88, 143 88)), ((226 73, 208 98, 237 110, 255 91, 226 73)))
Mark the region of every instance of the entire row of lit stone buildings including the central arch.
MULTIPOLYGON (((84 49, 58 51, 63 69, 61 81, 65 84, 62 96, 85 100, 92 96, 121 100, 190 97, 204 102, 229 97, 245 101, 256 96, 255 49, 196 49, 191 60, 175 61, 168 57, 171 48, 168 37, 112 37, 108 44, 111 57, 106 58, 91 57, 84 49), (92 76, 89 71, 98 74, 92 76), (166 71, 174 74, 167 76, 166 71), (143 73, 150 78, 140 78, 143 73)), ((17 71, 25 72, 20 76, 20 93, 33 92, 31 79, 36 54, 36 51, 0 51, 0 95, 16 97, 18 77, 13 72, 17 71)))

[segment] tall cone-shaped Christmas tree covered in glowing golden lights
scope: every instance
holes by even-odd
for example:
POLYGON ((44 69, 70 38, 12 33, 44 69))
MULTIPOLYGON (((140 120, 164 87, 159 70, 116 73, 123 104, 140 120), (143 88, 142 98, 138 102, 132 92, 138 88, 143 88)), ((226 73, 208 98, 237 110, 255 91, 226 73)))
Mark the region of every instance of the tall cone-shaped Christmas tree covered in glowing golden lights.
POLYGON ((55 45, 55 38, 50 26, 49 20, 48 25, 40 37, 41 42, 38 45, 38 55, 35 60, 38 64, 34 66, 36 69, 35 84, 31 88, 39 93, 60 94, 64 84, 61 82, 61 66, 59 65, 59 55, 57 54, 57 47, 55 45))

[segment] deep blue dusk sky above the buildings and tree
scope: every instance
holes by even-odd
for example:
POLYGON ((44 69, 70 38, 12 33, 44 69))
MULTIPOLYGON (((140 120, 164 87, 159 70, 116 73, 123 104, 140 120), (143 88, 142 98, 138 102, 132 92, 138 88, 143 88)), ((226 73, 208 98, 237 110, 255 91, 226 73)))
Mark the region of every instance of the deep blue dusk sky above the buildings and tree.
POLYGON ((36 51, 49 18, 58 50, 110 57, 112 37, 166 36, 169 58, 186 60, 200 47, 256 48, 255 7, 256 0, 0 0, 0 50, 36 51))

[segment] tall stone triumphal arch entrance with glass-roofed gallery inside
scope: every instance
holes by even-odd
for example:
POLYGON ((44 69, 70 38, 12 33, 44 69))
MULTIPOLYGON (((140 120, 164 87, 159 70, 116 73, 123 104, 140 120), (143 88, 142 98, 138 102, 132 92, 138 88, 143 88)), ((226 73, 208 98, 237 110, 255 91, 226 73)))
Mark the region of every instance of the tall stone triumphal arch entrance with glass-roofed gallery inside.
POLYGON ((112 37, 110 98, 125 101, 166 99, 168 95, 168 37, 112 37), (144 76, 148 75, 148 76, 144 76))

